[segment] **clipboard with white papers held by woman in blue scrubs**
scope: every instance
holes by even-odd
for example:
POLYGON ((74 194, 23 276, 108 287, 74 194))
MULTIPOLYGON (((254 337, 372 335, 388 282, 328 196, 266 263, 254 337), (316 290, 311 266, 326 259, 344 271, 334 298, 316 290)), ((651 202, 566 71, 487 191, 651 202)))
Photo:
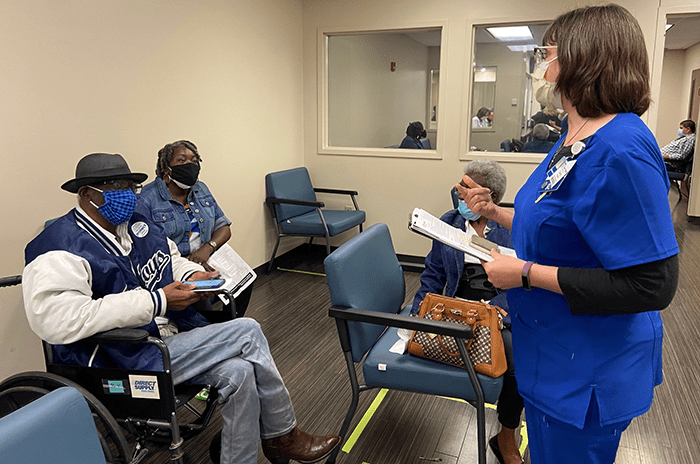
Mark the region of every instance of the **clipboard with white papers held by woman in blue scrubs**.
MULTIPOLYGON (((414 209, 413 213, 411 213, 408 228, 413 232, 442 242, 482 261, 493 261, 491 255, 483 251, 483 248, 475 248, 471 244, 471 237, 466 232, 452 227, 420 208, 414 209)), ((502 246, 498 247, 498 252, 506 256, 515 256, 514 250, 502 246)))

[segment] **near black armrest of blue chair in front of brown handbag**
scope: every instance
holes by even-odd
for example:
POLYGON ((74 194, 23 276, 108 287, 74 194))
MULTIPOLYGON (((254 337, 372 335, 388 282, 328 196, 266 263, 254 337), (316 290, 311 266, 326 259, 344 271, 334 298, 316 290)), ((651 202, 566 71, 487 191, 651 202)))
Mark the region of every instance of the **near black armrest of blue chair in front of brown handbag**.
POLYGON ((400 329, 419 330, 463 340, 469 340, 474 337, 471 327, 467 325, 450 324, 449 322, 432 321, 401 314, 387 314, 365 309, 331 306, 328 310, 328 315, 346 321, 367 322, 369 324, 387 325, 400 329))

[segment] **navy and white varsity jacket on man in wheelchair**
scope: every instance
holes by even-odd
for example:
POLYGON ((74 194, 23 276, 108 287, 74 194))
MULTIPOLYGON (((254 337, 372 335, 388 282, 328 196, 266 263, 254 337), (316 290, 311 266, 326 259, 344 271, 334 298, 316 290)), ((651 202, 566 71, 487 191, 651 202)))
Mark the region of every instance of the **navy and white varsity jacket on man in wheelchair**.
POLYGON ((27 319, 55 345, 55 362, 158 370, 162 360, 154 346, 96 347, 81 340, 124 327, 158 337, 156 316, 173 320, 180 331, 208 324, 192 308, 166 311, 162 288, 203 268, 181 257, 163 229, 138 213, 114 237, 77 207, 27 245, 25 260, 27 319))

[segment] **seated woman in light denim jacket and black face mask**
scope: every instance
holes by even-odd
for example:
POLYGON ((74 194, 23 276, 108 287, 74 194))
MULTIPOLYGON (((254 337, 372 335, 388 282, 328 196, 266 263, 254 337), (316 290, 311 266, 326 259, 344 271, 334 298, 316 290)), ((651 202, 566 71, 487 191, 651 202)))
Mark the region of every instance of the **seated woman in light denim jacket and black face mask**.
MULTIPOLYGON (((201 161, 188 140, 161 148, 157 177, 143 187, 137 211, 161 225, 182 256, 208 268, 211 254, 231 238, 231 221, 199 180, 201 161)), ((249 286, 236 298, 238 316, 245 313, 252 291, 249 286)))

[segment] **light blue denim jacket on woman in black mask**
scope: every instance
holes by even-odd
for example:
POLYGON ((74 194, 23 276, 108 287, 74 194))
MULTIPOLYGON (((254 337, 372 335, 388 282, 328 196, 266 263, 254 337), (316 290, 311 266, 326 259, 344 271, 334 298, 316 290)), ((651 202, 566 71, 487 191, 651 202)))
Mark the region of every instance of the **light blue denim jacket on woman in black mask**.
MULTIPOLYGON (((187 202, 199 222, 202 243, 210 241, 218 228, 231 224, 204 182, 197 181, 194 184, 187 195, 187 202)), ((182 256, 194 251, 190 250, 190 216, 185 207, 173 199, 163 179, 156 177, 143 187, 136 211, 161 225, 168 237, 177 244, 182 256)))

